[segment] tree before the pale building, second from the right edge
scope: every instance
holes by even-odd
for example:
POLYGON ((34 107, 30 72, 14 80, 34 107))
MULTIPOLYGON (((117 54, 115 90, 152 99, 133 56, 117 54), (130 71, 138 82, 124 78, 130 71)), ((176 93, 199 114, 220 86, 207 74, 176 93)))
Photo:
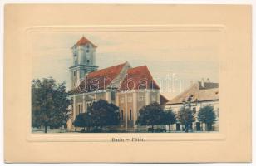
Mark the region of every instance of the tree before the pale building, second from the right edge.
POLYGON ((195 111, 190 110, 189 108, 185 108, 185 106, 181 107, 178 112, 178 120, 180 121, 181 125, 185 125, 185 132, 188 132, 191 128, 192 122, 195 121, 194 118, 195 111))

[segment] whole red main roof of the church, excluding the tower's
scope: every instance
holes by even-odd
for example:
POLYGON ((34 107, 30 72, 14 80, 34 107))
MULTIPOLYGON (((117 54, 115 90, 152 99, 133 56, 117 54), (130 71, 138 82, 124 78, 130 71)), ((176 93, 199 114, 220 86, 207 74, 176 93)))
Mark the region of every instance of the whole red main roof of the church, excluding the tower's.
POLYGON ((116 87, 116 82, 119 84, 119 90, 160 89, 147 66, 130 68, 129 63, 125 62, 120 65, 90 72, 73 92, 106 90, 111 85, 113 85, 111 86, 112 88, 116 87), (128 67, 125 68, 125 66, 128 67))

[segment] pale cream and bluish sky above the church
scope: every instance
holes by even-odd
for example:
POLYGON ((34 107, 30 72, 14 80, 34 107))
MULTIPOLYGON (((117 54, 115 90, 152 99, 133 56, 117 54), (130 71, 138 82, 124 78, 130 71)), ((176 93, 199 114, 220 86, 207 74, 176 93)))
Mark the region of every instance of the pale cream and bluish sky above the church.
POLYGON ((161 94, 170 100, 190 86, 190 81, 209 78, 219 82, 220 35, 219 32, 34 32, 32 78, 52 76, 57 82, 66 81, 70 89, 71 46, 85 36, 98 46, 99 69, 125 61, 132 67, 146 65, 159 82, 161 94))

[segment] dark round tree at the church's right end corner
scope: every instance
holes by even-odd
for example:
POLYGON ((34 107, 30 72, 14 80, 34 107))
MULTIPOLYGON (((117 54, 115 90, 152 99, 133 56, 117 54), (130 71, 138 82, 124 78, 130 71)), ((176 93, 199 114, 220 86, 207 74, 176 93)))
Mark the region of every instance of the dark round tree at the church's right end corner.
POLYGON ((135 123, 136 125, 151 125, 152 131, 154 131, 154 125, 163 124, 164 110, 156 102, 143 106, 139 110, 139 113, 140 115, 135 123))

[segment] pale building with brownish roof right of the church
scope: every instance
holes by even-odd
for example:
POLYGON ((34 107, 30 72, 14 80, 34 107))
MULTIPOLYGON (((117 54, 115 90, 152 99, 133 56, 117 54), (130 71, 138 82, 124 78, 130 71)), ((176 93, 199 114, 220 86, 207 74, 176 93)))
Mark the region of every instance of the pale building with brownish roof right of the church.
MULTIPOLYGON (((197 81, 196 83, 190 85, 187 90, 180 93, 180 95, 177 95, 174 99, 167 102, 165 105, 165 110, 173 110, 175 113, 177 113, 180 110, 180 107, 184 106, 184 101, 188 100, 190 96, 192 104, 191 109, 196 111, 196 120, 192 125, 194 131, 205 130, 205 125, 201 124, 197 120, 197 114, 199 109, 206 105, 211 105, 214 107, 217 121, 213 125, 213 129, 215 131, 219 131, 219 83, 210 82, 209 79, 207 79, 206 82, 204 79, 202 79, 202 81, 197 81)), ((172 130, 179 131, 182 130, 182 125, 177 122, 175 125, 172 125, 171 128, 172 130)))

